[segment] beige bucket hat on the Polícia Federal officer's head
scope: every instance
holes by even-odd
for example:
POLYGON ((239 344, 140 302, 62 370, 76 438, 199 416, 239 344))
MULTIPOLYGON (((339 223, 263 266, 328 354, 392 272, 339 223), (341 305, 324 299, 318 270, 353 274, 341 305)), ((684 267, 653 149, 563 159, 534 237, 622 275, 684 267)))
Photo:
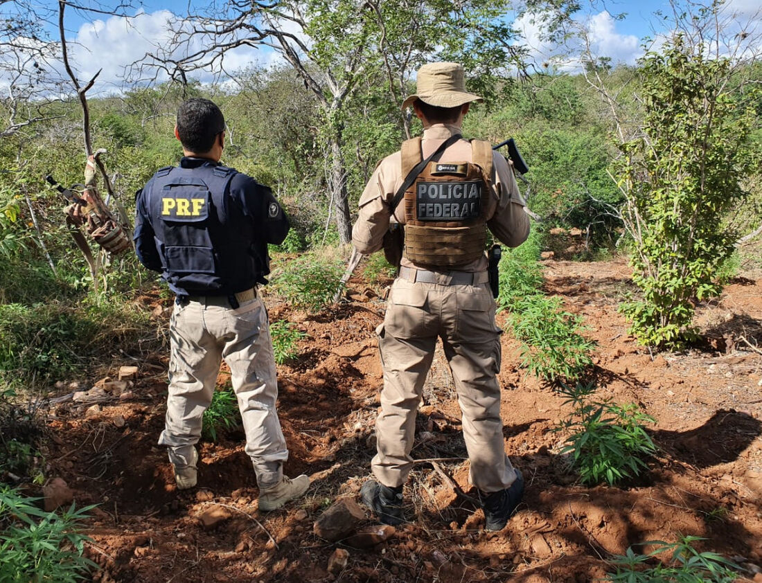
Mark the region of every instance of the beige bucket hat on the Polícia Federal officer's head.
POLYGON ((429 62, 418 69, 417 91, 402 102, 402 109, 412 107, 416 99, 434 107, 458 107, 471 101, 484 101, 466 92, 463 66, 457 62, 429 62))

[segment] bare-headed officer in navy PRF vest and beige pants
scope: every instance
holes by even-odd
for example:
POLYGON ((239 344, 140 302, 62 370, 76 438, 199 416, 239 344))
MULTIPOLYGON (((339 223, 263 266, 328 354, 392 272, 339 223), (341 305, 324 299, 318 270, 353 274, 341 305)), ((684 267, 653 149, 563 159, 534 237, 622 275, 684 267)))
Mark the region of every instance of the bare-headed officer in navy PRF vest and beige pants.
POLYGON ((289 222, 270 188, 219 163, 225 120, 212 101, 185 101, 174 136, 183 146, 180 165, 161 168, 136 198, 138 258, 177 295, 167 415, 158 443, 168 447, 178 489, 193 488, 195 445, 224 358, 257 476, 259 508, 274 510, 309 487, 307 476, 283 476, 288 450, 275 408, 270 327, 257 290, 269 273, 267 244, 282 243, 289 222))

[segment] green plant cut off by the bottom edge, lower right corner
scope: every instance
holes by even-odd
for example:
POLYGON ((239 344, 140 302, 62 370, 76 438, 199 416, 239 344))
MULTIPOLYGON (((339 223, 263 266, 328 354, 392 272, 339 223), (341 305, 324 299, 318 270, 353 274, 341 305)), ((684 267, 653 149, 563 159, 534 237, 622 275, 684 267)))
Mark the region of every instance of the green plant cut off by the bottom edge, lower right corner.
POLYGON ((733 562, 717 553, 706 551, 699 553, 693 548, 693 543, 703 540, 701 537, 681 537, 677 543, 664 543, 661 540, 649 540, 643 545, 658 545, 645 555, 636 554, 632 547, 625 555, 616 556, 612 563, 616 565, 616 573, 609 573, 607 581, 617 583, 728 583, 738 577, 732 570, 738 568, 733 562), (655 567, 643 569, 646 562, 651 561, 661 553, 670 553, 667 564, 660 562, 655 567))

